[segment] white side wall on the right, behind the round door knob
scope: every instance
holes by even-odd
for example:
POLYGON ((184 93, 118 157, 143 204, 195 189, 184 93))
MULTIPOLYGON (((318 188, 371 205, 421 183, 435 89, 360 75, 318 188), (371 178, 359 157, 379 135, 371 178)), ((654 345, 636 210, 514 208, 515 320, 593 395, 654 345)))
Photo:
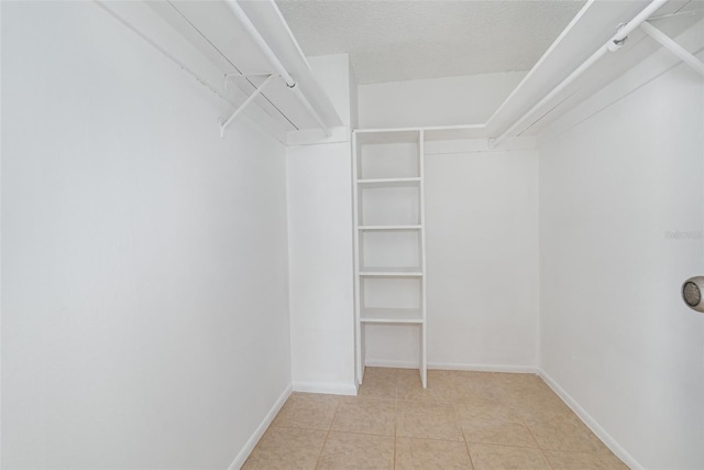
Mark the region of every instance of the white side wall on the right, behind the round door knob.
POLYGON ((630 464, 703 468, 704 316, 680 286, 704 273, 704 89, 646 72, 539 149, 540 365, 630 464))

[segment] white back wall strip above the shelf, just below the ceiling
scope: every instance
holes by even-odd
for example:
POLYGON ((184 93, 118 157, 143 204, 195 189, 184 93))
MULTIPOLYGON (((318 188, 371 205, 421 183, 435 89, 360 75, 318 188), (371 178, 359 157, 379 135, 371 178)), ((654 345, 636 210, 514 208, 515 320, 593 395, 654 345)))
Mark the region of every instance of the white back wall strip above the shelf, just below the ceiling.
POLYGON ((509 72, 360 85, 360 128, 483 124, 525 75, 509 72))

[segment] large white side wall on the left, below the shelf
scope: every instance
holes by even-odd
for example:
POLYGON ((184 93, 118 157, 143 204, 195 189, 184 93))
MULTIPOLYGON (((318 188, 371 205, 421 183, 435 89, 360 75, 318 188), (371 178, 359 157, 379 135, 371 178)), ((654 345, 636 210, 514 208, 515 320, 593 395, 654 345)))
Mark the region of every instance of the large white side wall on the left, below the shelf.
POLYGON ((92 2, 2 9, 3 467, 227 468, 290 383, 284 149, 92 2))

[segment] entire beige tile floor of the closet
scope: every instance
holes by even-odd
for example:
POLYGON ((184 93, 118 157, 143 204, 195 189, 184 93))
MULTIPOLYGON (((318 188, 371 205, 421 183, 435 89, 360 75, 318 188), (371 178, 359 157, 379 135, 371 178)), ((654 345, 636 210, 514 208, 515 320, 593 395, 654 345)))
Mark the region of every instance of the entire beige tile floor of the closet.
POLYGON ((243 469, 627 469, 531 374, 366 368, 359 396, 294 393, 243 469))

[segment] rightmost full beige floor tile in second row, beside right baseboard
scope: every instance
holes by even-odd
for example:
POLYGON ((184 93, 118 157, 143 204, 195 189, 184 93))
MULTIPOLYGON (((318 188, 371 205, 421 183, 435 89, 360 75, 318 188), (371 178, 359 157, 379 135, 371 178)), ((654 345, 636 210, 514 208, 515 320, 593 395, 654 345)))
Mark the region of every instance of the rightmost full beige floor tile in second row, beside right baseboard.
POLYGON ((594 452, 605 447, 590 428, 571 412, 546 412, 541 415, 526 417, 524 423, 541 449, 594 452))

